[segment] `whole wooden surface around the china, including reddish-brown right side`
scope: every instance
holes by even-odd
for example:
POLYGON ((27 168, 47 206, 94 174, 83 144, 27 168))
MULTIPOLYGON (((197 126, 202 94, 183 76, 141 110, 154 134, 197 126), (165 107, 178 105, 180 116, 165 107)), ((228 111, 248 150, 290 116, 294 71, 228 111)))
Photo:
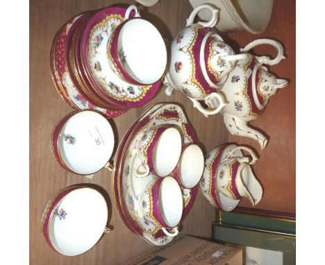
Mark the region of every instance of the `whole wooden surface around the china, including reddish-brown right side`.
MULTIPOLYGON (((103 169, 90 180, 62 169, 51 153, 51 132, 72 109, 60 98, 52 83, 49 71, 49 50, 56 31, 68 19, 86 10, 97 10, 120 1, 103 0, 31 0, 30 1, 30 264, 124 264, 126 259, 144 250, 154 248, 141 237, 133 234, 119 219, 113 201, 111 173, 103 169), (42 236, 40 216, 47 200, 59 189, 78 183, 92 183, 106 190, 110 197, 110 225, 113 231, 106 234, 88 253, 65 257, 55 253, 42 236)), ((135 1, 123 1, 135 3, 135 1)), ((171 40, 185 27, 185 19, 192 7, 187 0, 160 0, 151 8, 142 7, 142 17, 153 23, 163 37, 171 40)), ((228 136, 221 115, 206 119, 192 108, 190 100, 181 93, 165 96, 163 89, 149 103, 129 110, 114 119, 118 140, 124 132, 154 103, 169 101, 180 103, 188 120, 194 126, 205 152, 219 144, 237 142, 256 148, 260 160, 254 165, 256 175, 263 184, 264 197, 260 209, 295 212, 295 4, 294 1, 274 1, 274 12, 269 28, 260 35, 245 31, 221 34, 239 51, 258 37, 273 37, 285 46, 288 59, 271 67, 279 78, 288 78, 290 85, 279 91, 266 108, 263 117, 253 121, 253 126, 267 132, 270 140, 260 151, 250 139, 228 136)), ((274 51, 261 46, 254 51, 274 55, 274 51)), ((249 206, 247 200, 241 205, 249 206)), ((210 237, 211 222, 215 221, 215 208, 198 193, 192 210, 183 222, 183 233, 210 237)))

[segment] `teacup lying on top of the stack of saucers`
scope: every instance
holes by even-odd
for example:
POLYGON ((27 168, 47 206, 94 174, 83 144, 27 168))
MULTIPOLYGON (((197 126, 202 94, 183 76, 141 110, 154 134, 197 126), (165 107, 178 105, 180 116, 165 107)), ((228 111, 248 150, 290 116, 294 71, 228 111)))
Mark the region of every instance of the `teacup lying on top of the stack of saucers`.
POLYGON ((151 85, 161 79, 167 51, 158 29, 140 15, 119 24, 111 33, 107 56, 120 78, 134 85, 151 85))

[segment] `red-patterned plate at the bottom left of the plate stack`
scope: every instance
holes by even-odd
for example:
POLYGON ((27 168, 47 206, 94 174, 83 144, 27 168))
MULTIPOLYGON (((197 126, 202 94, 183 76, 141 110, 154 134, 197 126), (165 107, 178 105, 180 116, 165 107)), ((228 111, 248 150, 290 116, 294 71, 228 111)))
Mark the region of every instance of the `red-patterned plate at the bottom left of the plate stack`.
POLYGON ((78 92, 78 89, 72 82, 67 71, 67 60, 65 57, 65 51, 67 49, 67 35, 73 24, 84 14, 78 15, 70 19, 65 25, 58 31, 57 37, 53 41, 51 48, 50 59, 51 76, 53 83, 56 86, 60 96, 64 101, 72 107, 74 110, 94 109, 103 112, 107 117, 114 118, 124 113, 124 111, 106 110, 98 108, 94 104, 90 103, 85 97, 78 92))

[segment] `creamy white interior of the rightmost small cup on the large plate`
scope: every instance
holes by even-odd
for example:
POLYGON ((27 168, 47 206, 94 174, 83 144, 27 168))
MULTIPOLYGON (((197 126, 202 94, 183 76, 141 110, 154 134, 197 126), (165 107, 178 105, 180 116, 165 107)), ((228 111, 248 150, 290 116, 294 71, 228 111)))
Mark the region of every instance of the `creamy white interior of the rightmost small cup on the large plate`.
POLYGON ((178 162, 179 179, 190 189, 199 183, 204 170, 204 155, 197 144, 186 147, 178 162))

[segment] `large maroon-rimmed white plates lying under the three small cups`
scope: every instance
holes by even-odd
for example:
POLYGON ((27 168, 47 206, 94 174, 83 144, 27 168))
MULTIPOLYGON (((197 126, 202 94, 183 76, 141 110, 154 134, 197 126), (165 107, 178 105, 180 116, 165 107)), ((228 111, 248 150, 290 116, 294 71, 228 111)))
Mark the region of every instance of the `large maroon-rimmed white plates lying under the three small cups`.
MULTIPOLYGON (((136 231, 137 234, 142 235, 149 243, 155 246, 163 246, 172 241, 174 237, 165 235, 156 223, 152 223, 138 211, 138 195, 157 177, 149 174, 145 178, 137 178, 132 173, 138 159, 135 157, 135 144, 142 137, 142 133, 148 126, 159 126, 168 123, 174 124, 174 126, 181 130, 184 136, 184 143, 197 141, 197 137, 194 135, 192 127, 187 123, 181 107, 174 104, 160 104, 158 106, 153 107, 156 110, 149 110, 124 135, 124 139, 122 139, 119 146, 117 159, 115 160, 113 190, 115 193, 115 204, 117 204, 119 214, 124 219, 124 223, 128 221, 127 223, 133 228, 133 232, 136 231), (159 108, 157 109, 158 106, 159 108), (117 197, 119 200, 117 200, 117 197)), ((183 198, 184 210, 182 221, 190 211, 197 195, 197 189, 189 189, 189 191, 190 196, 183 198)))

